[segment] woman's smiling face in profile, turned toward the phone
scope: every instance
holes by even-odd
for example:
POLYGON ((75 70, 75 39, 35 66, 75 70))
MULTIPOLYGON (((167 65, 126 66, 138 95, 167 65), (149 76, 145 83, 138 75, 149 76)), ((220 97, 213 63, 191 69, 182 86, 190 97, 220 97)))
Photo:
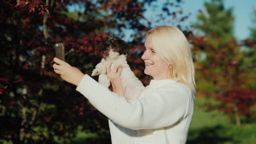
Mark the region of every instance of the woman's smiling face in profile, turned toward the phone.
POLYGON ((145 42, 146 50, 142 55, 145 63, 144 73, 153 76, 154 80, 167 79, 169 65, 154 50, 152 36, 149 34, 145 42))

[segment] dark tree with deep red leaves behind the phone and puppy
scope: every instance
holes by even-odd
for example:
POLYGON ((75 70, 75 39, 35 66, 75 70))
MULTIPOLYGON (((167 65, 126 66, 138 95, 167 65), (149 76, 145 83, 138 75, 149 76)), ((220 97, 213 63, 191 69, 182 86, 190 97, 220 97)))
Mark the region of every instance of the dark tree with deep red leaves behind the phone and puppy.
POLYGON ((66 61, 91 74, 100 62, 97 42, 132 29, 127 59, 147 83, 137 50, 150 26, 144 6, 153 1, 0 1, 0 142, 70 143, 78 125, 109 142, 107 118, 53 73, 53 45, 63 42, 66 61))

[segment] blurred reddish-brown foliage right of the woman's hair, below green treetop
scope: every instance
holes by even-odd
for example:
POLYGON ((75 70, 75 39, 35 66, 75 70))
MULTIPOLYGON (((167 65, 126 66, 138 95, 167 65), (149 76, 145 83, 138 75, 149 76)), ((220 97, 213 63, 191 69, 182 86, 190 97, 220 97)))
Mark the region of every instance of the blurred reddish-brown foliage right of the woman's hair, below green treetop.
MULTIPOLYGON (((205 35, 190 38, 194 45, 193 51, 204 52, 207 58, 196 61, 199 65, 196 71, 200 71, 201 79, 213 83, 214 91, 211 92, 211 96, 214 95, 213 98, 221 102, 217 106, 208 106, 231 115, 235 112, 243 116, 252 115, 252 107, 256 104, 256 91, 247 83, 251 77, 245 76, 243 57, 237 57, 241 55, 238 49, 241 45, 235 40, 230 40, 220 47, 218 45, 222 43, 222 39, 214 38, 214 35, 213 32, 211 37, 205 35)), ((245 40, 244 43, 247 46, 254 46, 250 40, 245 40)), ((210 95, 207 90, 203 92, 207 96, 210 95)))

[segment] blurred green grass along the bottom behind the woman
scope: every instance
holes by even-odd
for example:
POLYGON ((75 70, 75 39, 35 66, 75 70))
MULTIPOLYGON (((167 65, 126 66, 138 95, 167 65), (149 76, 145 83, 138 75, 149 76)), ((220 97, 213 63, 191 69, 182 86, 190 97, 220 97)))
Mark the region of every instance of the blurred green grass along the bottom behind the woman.
MULTIPOLYGON (((254 144, 256 122, 242 123, 237 127, 223 113, 206 111, 205 100, 196 100, 194 117, 190 126, 187 144, 254 144)), ((93 133, 79 131, 72 143, 110 143, 110 137, 102 138, 93 133)))

